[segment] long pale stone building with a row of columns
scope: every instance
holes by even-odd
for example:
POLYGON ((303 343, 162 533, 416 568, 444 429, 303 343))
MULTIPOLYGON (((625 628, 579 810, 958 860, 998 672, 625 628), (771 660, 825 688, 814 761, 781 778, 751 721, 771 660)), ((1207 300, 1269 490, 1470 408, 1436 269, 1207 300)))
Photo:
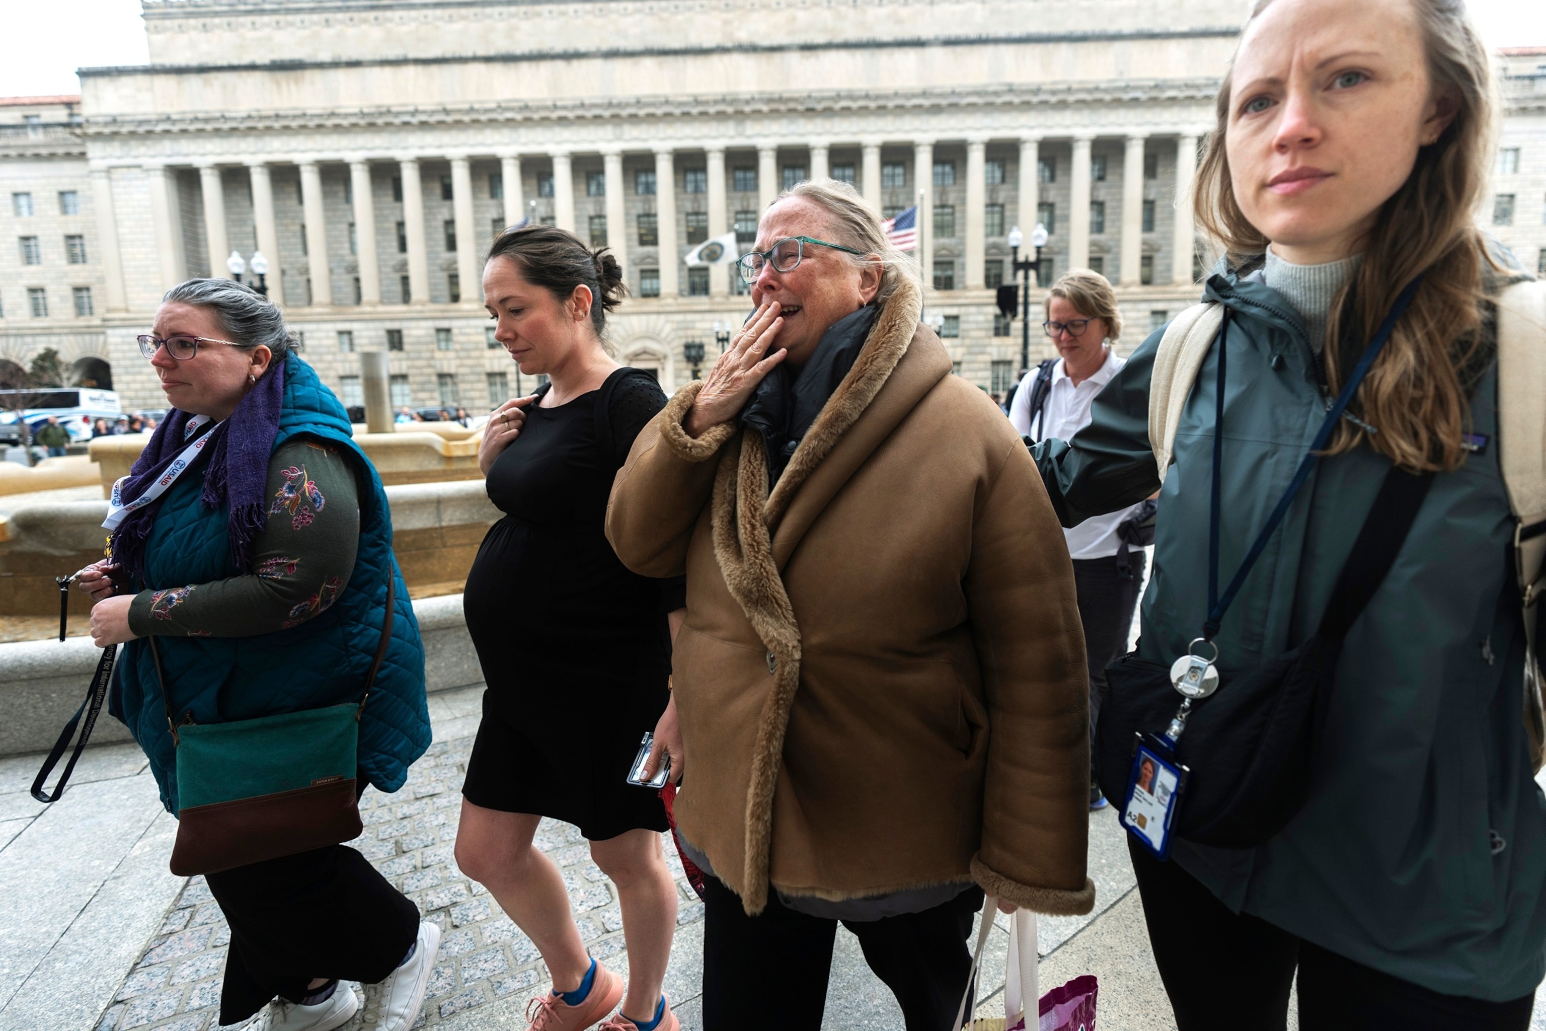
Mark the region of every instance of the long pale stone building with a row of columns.
MULTIPOLYGON (((346 402, 374 349, 399 405, 527 391, 478 289, 492 235, 523 218, 618 252, 632 297, 612 339, 671 388, 696 371, 690 345, 713 362, 716 326, 748 309, 731 269, 682 255, 731 230, 750 243, 779 190, 822 175, 887 213, 921 206, 926 317, 985 390, 1020 368, 993 289, 1014 226, 1051 232, 1044 283, 1081 266, 1118 283, 1135 346, 1197 297, 1186 196, 1240 20, 1234 0, 144 9, 150 65, 82 71, 77 107, 0 105, 0 236, 19 241, 0 244, 0 379, 56 346, 82 374, 105 360, 131 407, 161 402, 133 345, 161 292, 229 275, 232 250, 267 258, 346 402)), ((1546 193, 1540 76, 1526 57, 1510 71, 1510 124, 1534 127, 1518 159, 1546 193)), ((1517 202, 1537 223, 1540 206, 1517 202)), ((1543 233, 1517 235, 1534 266, 1543 233)), ((1036 329, 1033 360, 1050 352, 1036 329)))

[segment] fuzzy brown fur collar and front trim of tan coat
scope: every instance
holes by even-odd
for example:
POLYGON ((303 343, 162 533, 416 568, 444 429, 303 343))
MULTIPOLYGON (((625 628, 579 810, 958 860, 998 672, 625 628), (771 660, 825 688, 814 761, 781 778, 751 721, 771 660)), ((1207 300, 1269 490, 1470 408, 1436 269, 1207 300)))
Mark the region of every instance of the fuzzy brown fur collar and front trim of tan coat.
MULTIPOLYGON (((725 448, 716 470, 714 558, 731 597, 767 645, 768 672, 773 675, 773 691, 762 706, 758 725, 751 785, 747 790, 741 898, 750 915, 762 912, 767 906, 773 790, 784 762, 784 731, 795 705, 795 692, 799 689, 799 624, 784 590, 778 564, 773 561, 771 532, 778 529, 790 498, 884 386, 912 342, 920 312, 921 294, 911 281, 904 281, 881 309, 858 360, 801 441, 771 496, 768 496, 767 450, 756 430, 744 430, 739 441, 725 448)), ((677 397, 680 399, 682 393, 677 397)), ((691 400, 682 405, 682 413, 690 403, 691 400)), ((662 422, 680 427, 680 417, 679 414, 674 420, 666 417, 662 422)), ((707 445, 708 434, 694 444, 707 445)), ((673 445, 682 450, 674 441, 673 445)))

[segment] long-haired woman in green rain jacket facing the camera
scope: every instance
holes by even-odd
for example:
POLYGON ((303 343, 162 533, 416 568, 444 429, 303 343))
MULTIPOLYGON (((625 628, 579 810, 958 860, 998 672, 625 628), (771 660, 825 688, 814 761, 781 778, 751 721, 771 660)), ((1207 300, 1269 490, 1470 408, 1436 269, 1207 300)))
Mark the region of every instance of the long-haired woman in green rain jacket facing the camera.
MULTIPOLYGON (((1181 1031, 1283 1028, 1296 966, 1300 1028, 1529 1023, 1546 971, 1546 801, 1520 717, 1487 300, 1524 277, 1472 223, 1490 117, 1487 57, 1456 0, 1263 0, 1220 91, 1195 207, 1228 252, 1204 291, 1228 309, 1221 583, 1396 295, 1422 281, 1228 609, 1218 665, 1280 657, 1316 631, 1393 461, 1436 475, 1347 635, 1292 822, 1255 849, 1181 839, 1167 863, 1132 849, 1181 1031)), ((1064 526, 1160 488, 1147 414, 1161 335, 1085 430, 1037 445, 1064 526)), ((1160 495, 1138 657, 1166 666, 1207 611, 1217 357, 1215 340, 1160 495)))

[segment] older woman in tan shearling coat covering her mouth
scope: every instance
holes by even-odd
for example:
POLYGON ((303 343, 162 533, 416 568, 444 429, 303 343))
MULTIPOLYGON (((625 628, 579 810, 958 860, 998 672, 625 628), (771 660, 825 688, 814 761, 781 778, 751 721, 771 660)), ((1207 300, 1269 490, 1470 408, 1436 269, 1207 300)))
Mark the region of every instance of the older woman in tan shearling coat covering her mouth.
POLYGON ((843 920, 909 1031, 945 1031, 983 889, 1095 901, 1073 569, 877 212, 801 184, 756 247, 754 317, 640 433, 606 519, 626 566, 688 578, 657 737, 713 873, 705 1028, 818 1028, 843 920))

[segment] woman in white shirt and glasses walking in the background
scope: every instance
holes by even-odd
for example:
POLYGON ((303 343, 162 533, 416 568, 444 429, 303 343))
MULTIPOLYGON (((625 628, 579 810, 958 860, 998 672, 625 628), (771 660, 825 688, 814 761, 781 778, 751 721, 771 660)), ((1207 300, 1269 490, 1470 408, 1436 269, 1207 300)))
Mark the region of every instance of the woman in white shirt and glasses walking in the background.
MULTIPOLYGON (((1059 357, 1050 366, 1044 363, 1045 368, 1025 374, 1010 403, 1010 422, 1016 433, 1033 442, 1048 437, 1068 441, 1088 425, 1090 402, 1127 363, 1112 351, 1112 342, 1122 335, 1122 314, 1116 311, 1110 281, 1088 269, 1065 272, 1053 283, 1044 311, 1047 322, 1042 329, 1057 345, 1059 357)), ((1079 589, 1079 618, 1090 665, 1091 736, 1105 699, 1105 663, 1127 651, 1138 586, 1144 578, 1142 549, 1124 549, 1116 530, 1135 510, 1091 516, 1064 530, 1079 589)), ((1105 808, 1093 770, 1090 808, 1105 808)))

